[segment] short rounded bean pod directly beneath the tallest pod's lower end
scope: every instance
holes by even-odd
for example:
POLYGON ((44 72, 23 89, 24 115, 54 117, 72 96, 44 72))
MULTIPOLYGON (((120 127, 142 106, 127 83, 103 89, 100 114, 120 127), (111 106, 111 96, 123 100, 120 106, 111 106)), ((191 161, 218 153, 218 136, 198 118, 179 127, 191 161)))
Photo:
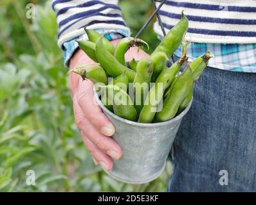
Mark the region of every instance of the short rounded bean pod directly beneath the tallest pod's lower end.
POLYGON ((160 73, 165 69, 169 59, 163 52, 154 52, 151 54, 151 60, 154 65, 154 72, 152 74, 151 82, 155 82, 160 73))

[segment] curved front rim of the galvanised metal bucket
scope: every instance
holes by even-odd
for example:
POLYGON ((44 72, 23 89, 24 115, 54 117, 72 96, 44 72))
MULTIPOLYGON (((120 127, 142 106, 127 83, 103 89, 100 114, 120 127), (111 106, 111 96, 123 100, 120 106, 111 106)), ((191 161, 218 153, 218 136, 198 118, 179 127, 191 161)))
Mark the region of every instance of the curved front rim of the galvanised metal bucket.
POLYGON ((142 122, 134 122, 131 120, 127 120, 127 119, 123 119, 122 117, 119 117, 118 115, 114 114, 112 111, 108 110, 104 104, 102 103, 102 101, 100 101, 100 98, 98 97, 98 94, 95 91, 95 88, 93 87, 93 92, 94 92, 94 99, 96 100, 97 104, 100 106, 100 108, 107 113, 107 115, 110 115, 111 117, 113 117, 114 119, 120 121, 120 122, 124 122, 125 124, 129 124, 131 126, 136 126, 136 127, 161 127, 161 126, 167 126, 169 124, 172 124, 173 122, 176 122, 178 120, 183 119, 183 117, 187 114, 188 110, 190 109, 191 105, 192 105, 192 101, 193 101, 193 97, 191 99, 191 101, 189 102, 187 108, 185 108, 185 110, 183 110, 181 113, 179 113, 179 115, 177 115, 176 117, 174 117, 173 119, 167 120, 165 122, 156 122, 156 123, 142 123, 142 122))

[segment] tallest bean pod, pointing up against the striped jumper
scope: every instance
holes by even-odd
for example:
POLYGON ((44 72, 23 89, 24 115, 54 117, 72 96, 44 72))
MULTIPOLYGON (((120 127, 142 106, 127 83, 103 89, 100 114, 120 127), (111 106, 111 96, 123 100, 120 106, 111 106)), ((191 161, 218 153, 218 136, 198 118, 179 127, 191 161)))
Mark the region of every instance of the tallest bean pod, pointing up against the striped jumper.
POLYGON ((163 38, 162 42, 156 49, 156 52, 163 52, 167 54, 167 57, 170 58, 174 51, 178 49, 179 44, 181 44, 183 36, 187 32, 188 29, 188 19, 181 13, 181 20, 179 20, 178 24, 176 24, 172 29, 170 29, 169 33, 163 38))

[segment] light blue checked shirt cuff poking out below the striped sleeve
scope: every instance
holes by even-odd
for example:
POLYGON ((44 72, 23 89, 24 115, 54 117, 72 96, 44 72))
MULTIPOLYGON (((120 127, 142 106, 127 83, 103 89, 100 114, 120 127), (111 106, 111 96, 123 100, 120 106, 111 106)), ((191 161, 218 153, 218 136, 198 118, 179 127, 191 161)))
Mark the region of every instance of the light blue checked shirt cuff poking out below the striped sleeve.
MULTIPOLYGON (((107 40, 115 40, 118 38, 130 37, 130 33, 126 29, 95 29, 95 31, 98 31, 98 33, 100 33, 101 35, 104 35, 105 38, 107 38, 107 40)), ((75 51, 78 49, 77 41, 79 40, 88 40, 87 35, 80 35, 76 38, 73 38, 72 40, 69 40, 68 42, 65 42, 62 45, 62 49, 64 50, 64 65, 66 67, 68 67, 69 60, 71 59, 75 51)))

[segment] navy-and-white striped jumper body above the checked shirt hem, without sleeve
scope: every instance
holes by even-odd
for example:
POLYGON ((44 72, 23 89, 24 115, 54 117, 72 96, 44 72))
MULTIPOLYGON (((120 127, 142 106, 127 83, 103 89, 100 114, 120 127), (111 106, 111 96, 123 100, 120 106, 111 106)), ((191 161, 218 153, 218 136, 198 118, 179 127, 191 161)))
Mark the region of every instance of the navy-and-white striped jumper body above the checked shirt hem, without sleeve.
MULTIPOLYGON (((181 18, 189 20, 186 40, 214 44, 256 43, 256 0, 172 0, 160 10, 163 26, 169 30, 181 18)), ((155 24, 161 35, 160 26, 155 24)))

